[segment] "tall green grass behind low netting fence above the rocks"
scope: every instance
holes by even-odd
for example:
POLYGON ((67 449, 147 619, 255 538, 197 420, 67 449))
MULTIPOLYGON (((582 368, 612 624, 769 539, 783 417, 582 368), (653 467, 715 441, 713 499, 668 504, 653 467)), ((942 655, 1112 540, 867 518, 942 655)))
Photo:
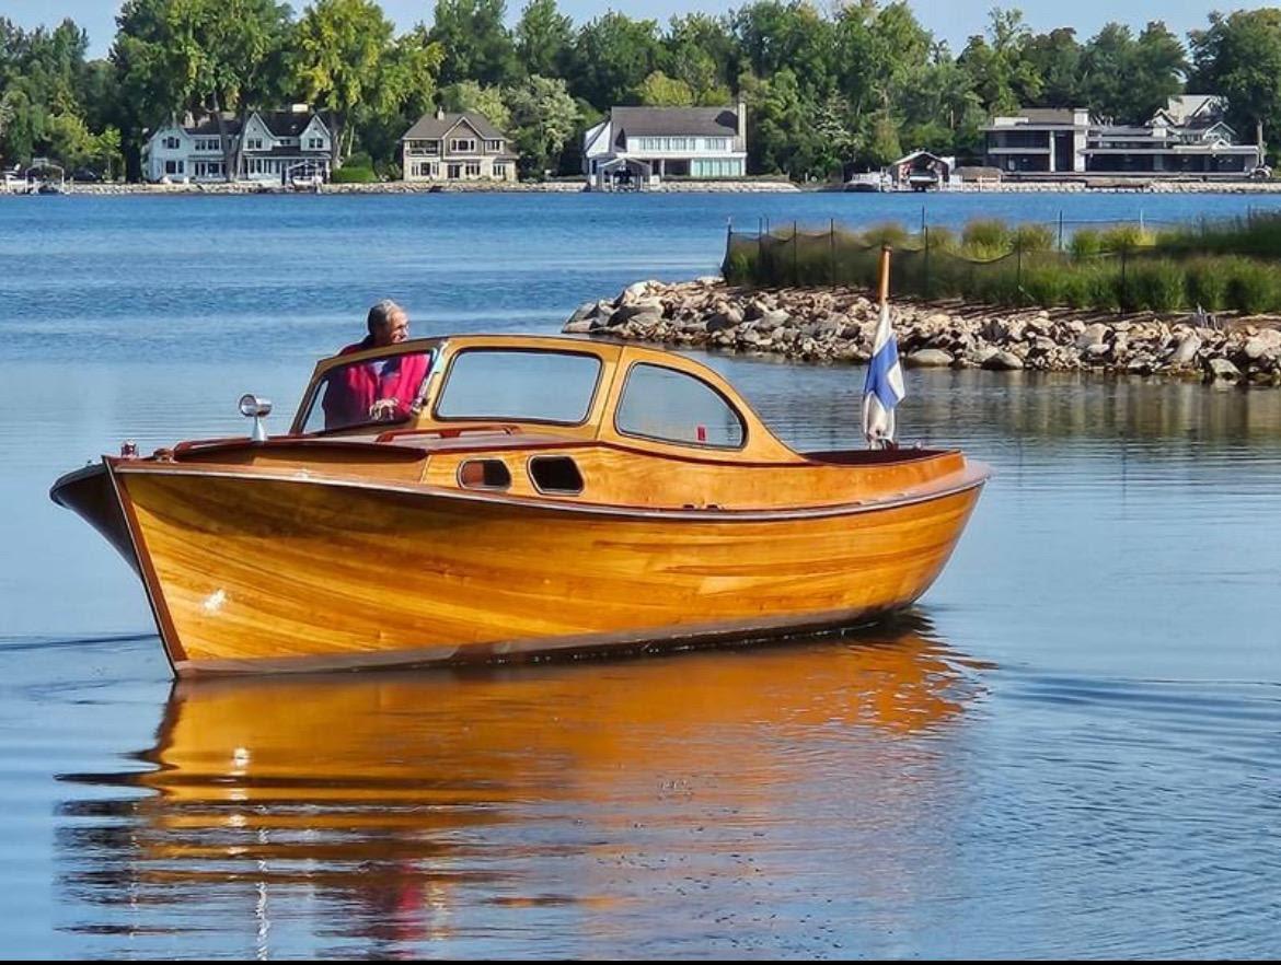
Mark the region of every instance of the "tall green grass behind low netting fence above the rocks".
POLYGON ((875 288, 880 248, 888 243, 895 294, 1011 306, 1281 312, 1281 215, 1159 234, 1138 225, 1084 229, 1066 252, 1056 252, 1054 241, 1048 225, 1011 228, 995 219, 971 221, 959 238, 947 228, 913 235, 898 224, 835 235, 793 237, 788 228, 733 238, 722 267, 739 284, 875 288), (1191 247, 1194 238, 1208 239, 1211 250, 1191 247))

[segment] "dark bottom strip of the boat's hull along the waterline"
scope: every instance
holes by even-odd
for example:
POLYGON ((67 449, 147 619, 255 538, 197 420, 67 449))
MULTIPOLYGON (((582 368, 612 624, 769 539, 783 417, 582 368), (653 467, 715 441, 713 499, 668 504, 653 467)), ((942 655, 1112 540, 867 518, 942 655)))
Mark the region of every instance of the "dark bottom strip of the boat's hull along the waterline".
POLYGON ((879 607, 865 610, 834 610, 803 618, 760 621, 752 626, 681 626, 673 627, 666 634, 660 631, 660 635, 656 635, 655 631, 630 631, 314 657, 174 660, 174 671, 182 677, 219 677, 245 673, 318 673, 411 667, 526 664, 660 654, 719 646, 746 646, 766 641, 778 642, 788 637, 856 630, 886 619, 908 605, 910 603, 904 603, 902 607, 879 607))

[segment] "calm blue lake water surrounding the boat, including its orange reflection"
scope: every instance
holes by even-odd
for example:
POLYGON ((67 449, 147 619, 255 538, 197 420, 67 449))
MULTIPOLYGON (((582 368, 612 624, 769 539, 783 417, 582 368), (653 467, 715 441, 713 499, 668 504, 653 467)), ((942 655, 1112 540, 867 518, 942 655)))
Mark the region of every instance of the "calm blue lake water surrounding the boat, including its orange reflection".
MULTIPOLYGON (((726 219, 920 197, 0 198, 0 886, 14 957, 1276 957, 1281 392, 908 372, 995 476, 903 619, 575 666, 174 685, 47 489, 292 415, 369 303, 556 331, 726 219)), ((1281 198, 929 197, 931 223, 1281 198)), ((790 443, 862 370, 710 358, 790 443)))

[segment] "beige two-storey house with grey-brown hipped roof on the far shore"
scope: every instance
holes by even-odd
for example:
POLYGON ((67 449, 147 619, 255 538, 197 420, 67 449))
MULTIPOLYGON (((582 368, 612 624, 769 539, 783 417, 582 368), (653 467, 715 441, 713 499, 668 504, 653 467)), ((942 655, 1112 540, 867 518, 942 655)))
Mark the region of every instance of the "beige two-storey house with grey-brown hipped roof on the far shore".
POLYGON ((511 138, 474 110, 424 114, 401 138, 405 180, 515 180, 511 138))

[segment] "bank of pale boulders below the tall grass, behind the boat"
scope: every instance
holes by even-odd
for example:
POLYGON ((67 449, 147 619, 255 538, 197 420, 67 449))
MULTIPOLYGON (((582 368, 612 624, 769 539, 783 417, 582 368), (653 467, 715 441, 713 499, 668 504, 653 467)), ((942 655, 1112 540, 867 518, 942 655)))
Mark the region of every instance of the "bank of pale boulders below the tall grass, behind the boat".
MULTIPOLYGON (((720 278, 638 282, 585 302, 564 331, 674 347, 861 363, 877 306, 862 289, 726 285, 720 278)), ((911 367, 1100 371, 1218 384, 1281 385, 1277 319, 1117 315, 895 302, 899 355, 911 367)))

